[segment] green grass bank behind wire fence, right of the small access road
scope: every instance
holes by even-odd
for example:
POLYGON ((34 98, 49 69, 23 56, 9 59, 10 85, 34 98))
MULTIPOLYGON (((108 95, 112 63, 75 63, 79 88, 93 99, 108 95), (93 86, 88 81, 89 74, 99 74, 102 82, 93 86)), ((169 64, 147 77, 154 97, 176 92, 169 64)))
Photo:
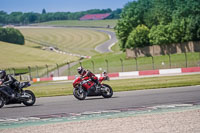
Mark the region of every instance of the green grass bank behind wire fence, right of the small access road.
POLYGON ((66 70, 64 75, 77 75, 76 68, 83 66, 91 70, 93 73, 101 73, 107 71, 114 72, 129 72, 141 70, 156 70, 156 69, 171 69, 184 67, 199 67, 200 53, 184 53, 178 55, 150 56, 140 58, 119 58, 117 60, 104 59, 103 62, 79 62, 76 66, 66 70))

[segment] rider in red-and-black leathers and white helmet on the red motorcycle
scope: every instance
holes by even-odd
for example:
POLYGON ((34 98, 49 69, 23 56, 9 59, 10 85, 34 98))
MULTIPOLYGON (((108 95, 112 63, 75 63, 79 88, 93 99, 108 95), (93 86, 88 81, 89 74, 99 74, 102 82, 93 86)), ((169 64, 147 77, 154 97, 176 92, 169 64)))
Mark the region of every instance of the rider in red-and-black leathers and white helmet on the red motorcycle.
MULTIPOLYGON (((94 81, 96 83, 97 89, 100 88, 100 83, 98 81, 98 78, 90 70, 84 69, 83 67, 78 67, 77 71, 83 78, 88 77, 92 81, 94 81)), ((97 89, 96 89, 96 91, 97 91, 97 89)))

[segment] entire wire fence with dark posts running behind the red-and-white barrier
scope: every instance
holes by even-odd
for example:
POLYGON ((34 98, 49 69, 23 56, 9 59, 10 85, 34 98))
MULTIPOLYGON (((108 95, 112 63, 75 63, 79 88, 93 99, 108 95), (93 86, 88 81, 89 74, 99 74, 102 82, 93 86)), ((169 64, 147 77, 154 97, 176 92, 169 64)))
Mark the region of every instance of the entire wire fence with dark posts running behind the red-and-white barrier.
POLYGON ((77 67, 83 66, 91 70, 93 73, 108 73, 114 72, 129 72, 141 70, 155 70, 155 69, 170 69, 170 68, 183 68, 183 67, 200 67, 200 53, 185 53, 178 55, 165 55, 154 57, 140 57, 140 58, 117 58, 115 60, 102 59, 101 62, 94 60, 84 61, 81 60, 77 63, 64 63, 62 65, 43 65, 43 66, 27 66, 23 72, 18 72, 16 68, 6 69, 7 73, 15 75, 18 80, 31 80, 32 78, 39 77, 53 77, 53 76, 70 76, 77 75, 77 67), (67 66, 64 72, 60 71, 60 66, 67 66))

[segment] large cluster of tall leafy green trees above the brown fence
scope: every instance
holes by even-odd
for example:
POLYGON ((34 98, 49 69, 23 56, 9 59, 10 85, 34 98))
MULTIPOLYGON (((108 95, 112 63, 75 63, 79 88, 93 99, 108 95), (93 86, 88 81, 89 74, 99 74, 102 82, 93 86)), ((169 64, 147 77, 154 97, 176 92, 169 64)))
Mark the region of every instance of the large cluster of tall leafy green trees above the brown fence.
POLYGON ((137 0, 123 8, 115 31, 121 50, 200 40, 200 0, 137 0))

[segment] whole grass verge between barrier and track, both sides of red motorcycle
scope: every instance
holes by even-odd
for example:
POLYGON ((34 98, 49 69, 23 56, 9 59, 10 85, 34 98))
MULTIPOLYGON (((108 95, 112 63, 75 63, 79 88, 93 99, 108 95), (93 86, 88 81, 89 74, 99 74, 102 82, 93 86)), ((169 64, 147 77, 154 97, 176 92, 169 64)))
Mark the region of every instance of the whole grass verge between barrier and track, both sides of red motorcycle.
MULTIPOLYGON (((72 94, 73 87, 70 82, 53 82, 51 85, 47 85, 48 83, 50 82, 34 83, 35 86, 31 86, 29 89, 31 89, 37 97, 72 94)), ((200 85, 200 74, 111 80, 105 81, 104 83, 109 84, 113 88, 114 92, 192 86, 200 85)))

